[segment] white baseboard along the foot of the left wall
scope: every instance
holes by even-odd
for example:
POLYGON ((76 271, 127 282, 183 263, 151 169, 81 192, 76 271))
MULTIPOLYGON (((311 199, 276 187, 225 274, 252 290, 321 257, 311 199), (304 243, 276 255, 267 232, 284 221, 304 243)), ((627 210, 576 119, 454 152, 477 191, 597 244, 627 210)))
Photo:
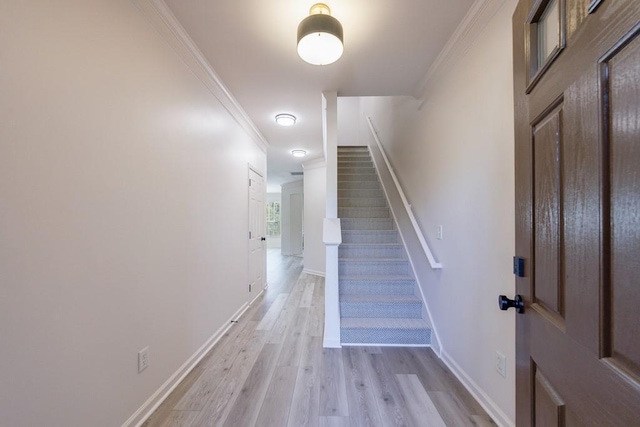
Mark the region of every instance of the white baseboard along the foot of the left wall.
POLYGON ((249 308, 249 303, 244 303, 233 316, 221 326, 203 345, 200 347, 169 379, 160 386, 155 393, 133 414, 122 427, 140 427, 147 418, 158 409, 160 404, 171 394, 171 392, 180 384, 180 382, 195 368, 202 358, 209 353, 213 346, 222 338, 222 336, 233 326, 232 320, 238 319, 249 308))

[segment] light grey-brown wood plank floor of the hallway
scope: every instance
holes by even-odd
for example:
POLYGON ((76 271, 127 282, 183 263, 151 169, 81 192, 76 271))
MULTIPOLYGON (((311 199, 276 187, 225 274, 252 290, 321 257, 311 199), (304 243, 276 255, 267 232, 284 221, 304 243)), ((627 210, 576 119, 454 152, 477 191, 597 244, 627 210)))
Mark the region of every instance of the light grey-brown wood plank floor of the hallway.
POLYGON ((267 291, 146 427, 493 426, 428 348, 323 349, 324 279, 268 251, 267 291))

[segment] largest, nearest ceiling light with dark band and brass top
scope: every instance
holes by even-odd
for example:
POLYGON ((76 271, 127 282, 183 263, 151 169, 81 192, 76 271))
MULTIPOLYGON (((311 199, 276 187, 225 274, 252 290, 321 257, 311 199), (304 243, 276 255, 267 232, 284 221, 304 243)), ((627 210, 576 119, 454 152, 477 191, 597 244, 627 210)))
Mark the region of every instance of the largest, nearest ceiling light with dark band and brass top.
POLYGON ((298 55, 309 64, 328 65, 343 51, 342 24, 331 16, 329 6, 314 4, 298 25, 298 55))

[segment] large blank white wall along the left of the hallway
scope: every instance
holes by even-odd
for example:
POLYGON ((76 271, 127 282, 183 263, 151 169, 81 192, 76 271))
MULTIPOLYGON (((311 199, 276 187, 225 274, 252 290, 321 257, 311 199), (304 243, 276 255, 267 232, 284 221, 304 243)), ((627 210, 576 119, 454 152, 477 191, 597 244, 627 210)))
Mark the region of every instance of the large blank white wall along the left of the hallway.
POLYGON ((246 303, 265 154, 132 2, 0 8, 0 424, 118 426, 246 303))

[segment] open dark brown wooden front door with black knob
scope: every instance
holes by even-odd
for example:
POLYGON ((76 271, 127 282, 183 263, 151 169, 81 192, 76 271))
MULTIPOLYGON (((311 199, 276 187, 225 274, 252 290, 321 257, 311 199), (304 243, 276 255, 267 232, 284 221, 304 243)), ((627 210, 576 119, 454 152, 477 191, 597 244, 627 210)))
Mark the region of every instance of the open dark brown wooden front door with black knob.
POLYGON ((640 426, 640 0, 513 19, 518 426, 640 426))

